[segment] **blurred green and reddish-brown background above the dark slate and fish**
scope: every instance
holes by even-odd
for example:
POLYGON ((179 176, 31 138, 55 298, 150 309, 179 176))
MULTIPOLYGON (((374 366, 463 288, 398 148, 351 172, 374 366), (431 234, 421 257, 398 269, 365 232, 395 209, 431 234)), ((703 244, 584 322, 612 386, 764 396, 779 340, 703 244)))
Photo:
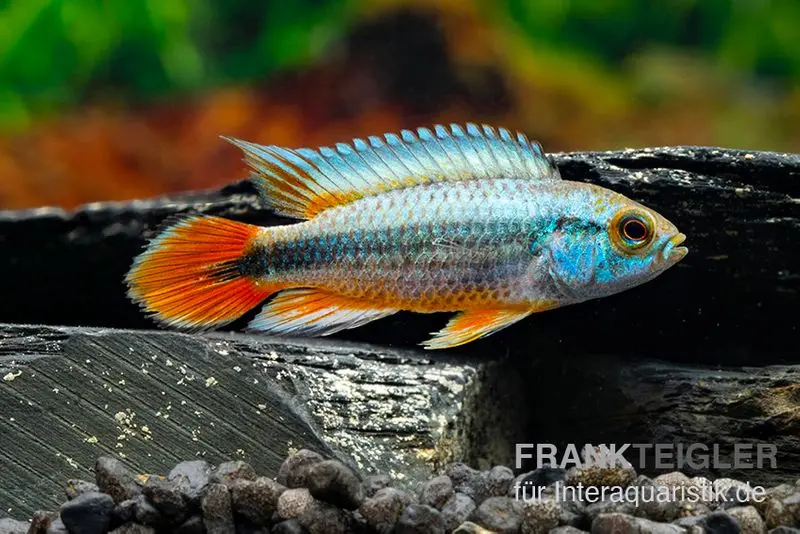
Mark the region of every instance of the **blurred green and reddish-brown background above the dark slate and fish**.
POLYGON ((220 135, 797 152, 798 27, 793 0, 0 0, 0 209, 243 178, 220 135))

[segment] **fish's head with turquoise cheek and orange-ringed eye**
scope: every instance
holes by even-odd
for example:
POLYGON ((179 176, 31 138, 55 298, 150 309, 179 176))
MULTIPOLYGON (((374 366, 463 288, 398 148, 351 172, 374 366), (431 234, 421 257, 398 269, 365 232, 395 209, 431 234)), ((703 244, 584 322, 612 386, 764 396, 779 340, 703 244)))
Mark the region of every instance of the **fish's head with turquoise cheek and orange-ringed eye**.
POLYGON ((686 236, 658 212, 596 186, 548 243, 548 272, 566 300, 589 300, 648 282, 679 261, 686 236))

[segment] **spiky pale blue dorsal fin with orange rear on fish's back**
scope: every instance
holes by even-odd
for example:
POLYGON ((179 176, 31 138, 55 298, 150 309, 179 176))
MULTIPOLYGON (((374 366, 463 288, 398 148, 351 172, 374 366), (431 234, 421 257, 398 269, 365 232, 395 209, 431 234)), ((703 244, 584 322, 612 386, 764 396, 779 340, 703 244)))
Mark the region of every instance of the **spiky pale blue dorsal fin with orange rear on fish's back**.
POLYGON ((538 143, 505 128, 436 125, 334 148, 289 149, 224 137, 244 151, 262 198, 280 214, 319 212, 390 189, 479 178, 558 180, 538 143))

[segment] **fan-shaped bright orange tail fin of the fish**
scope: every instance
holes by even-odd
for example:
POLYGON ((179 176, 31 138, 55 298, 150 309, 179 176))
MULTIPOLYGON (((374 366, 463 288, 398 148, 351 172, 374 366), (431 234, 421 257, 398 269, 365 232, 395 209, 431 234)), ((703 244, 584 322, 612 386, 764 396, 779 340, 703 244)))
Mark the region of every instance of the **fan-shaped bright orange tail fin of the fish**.
POLYGON ((281 289, 242 272, 260 231, 220 217, 172 220, 134 261, 128 295, 167 326, 208 330, 230 323, 281 289))

